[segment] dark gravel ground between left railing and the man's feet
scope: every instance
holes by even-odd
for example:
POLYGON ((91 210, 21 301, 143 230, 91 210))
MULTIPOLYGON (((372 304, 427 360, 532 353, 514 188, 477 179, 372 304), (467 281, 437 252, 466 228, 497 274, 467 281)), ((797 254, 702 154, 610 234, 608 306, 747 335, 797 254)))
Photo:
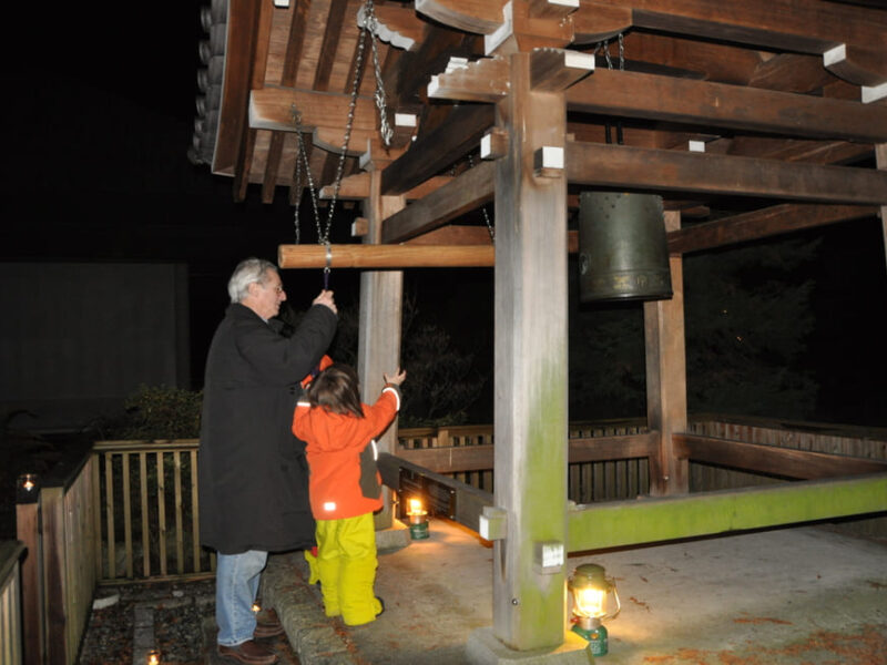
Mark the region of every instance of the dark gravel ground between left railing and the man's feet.
MULTIPOLYGON (((140 606, 152 610, 154 648, 160 651, 163 665, 227 664, 214 653, 214 594, 213 580, 99 589, 80 646, 78 664, 133 664, 134 653, 139 652, 137 645, 134 645, 134 634, 135 614, 140 606), (116 601, 114 596, 118 596, 116 601)), ((298 657, 285 635, 265 644, 277 652, 282 665, 298 665, 298 657)), ((142 664, 139 662, 133 665, 142 664)))

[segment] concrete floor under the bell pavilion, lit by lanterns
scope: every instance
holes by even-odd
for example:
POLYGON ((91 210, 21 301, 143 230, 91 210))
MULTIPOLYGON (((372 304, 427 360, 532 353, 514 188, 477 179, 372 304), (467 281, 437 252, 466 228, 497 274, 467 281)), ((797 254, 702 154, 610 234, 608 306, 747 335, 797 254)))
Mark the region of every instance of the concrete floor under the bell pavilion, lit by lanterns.
MULTIPOLYGON (((434 519, 379 538, 409 546, 379 556, 385 613, 346 626, 324 616, 300 552, 273 555, 263 604, 277 610, 302 665, 863 665, 887 663, 887 545, 822 528, 724 535, 571 556, 619 586, 609 653, 589 658, 573 633, 552 652, 514 653, 492 634, 492 549, 434 519)), ((387 548, 387 545, 385 545, 387 548)))

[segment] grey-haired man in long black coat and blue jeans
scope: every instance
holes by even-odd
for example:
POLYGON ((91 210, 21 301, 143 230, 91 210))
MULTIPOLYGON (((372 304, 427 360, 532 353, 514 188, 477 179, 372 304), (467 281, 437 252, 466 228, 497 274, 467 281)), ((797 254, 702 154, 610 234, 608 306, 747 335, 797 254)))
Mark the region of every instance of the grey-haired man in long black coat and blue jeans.
POLYGON ((277 661, 255 642, 283 632, 252 611, 268 552, 314 544, 305 444, 290 427, 299 381, 336 330, 324 290, 290 337, 272 320, 286 299, 274 264, 247 258, 228 282, 231 305, 206 359, 200 447, 201 543, 217 551, 218 654, 277 661))

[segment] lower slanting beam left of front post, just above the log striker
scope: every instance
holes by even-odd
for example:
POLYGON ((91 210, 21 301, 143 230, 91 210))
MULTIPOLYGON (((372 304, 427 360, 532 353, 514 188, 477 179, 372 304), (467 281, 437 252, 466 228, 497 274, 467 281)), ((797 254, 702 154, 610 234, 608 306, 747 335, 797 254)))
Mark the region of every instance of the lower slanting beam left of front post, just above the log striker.
POLYGON ((400 243, 422 235, 492 200, 495 171, 493 162, 481 162, 386 218, 381 242, 400 243))

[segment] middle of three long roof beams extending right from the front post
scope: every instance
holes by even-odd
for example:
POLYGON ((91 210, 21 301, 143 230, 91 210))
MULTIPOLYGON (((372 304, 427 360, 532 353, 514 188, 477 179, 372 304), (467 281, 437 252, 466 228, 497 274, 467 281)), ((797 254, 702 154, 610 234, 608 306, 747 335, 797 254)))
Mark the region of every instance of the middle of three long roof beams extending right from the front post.
POLYGON ((860 143, 887 141, 887 113, 880 106, 619 70, 598 70, 570 88, 567 108, 860 143))

